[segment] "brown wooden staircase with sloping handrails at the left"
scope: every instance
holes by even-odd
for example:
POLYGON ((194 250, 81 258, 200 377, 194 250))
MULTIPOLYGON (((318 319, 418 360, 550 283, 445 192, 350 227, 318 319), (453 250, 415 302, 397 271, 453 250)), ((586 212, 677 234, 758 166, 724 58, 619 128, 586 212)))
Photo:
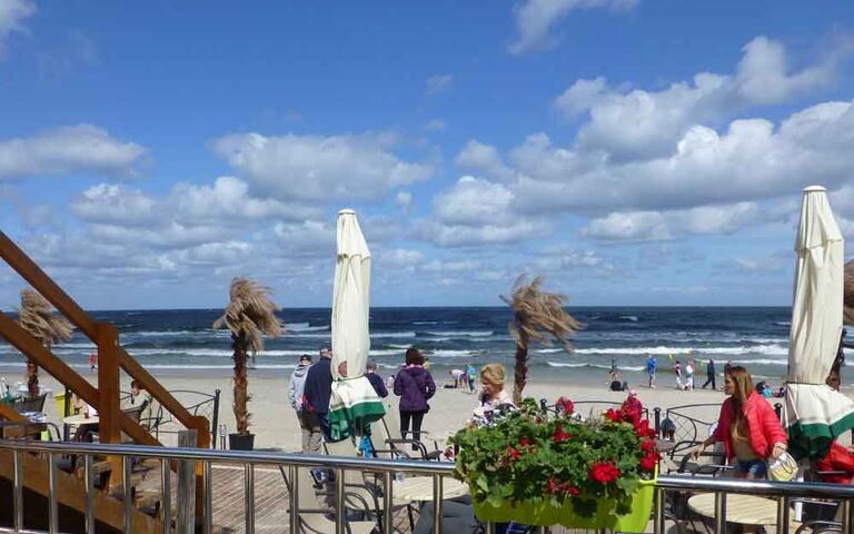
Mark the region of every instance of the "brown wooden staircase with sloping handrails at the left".
MULTIPOLYGON (((210 446, 208 419, 202 416, 196 416, 181 406, 175 396, 119 345, 119 332, 115 326, 107 323, 98 323, 89 316, 2 231, 0 231, 0 258, 18 271, 33 289, 47 298, 59 313, 97 345, 98 383, 93 386, 64 362, 46 349, 11 317, 0 312, 0 337, 9 342, 26 357, 33 359, 39 367, 43 368, 71 392, 98 409, 101 443, 118 444, 123 433, 141 445, 161 445, 148 431, 121 412, 119 406, 119 378, 120 372, 123 370, 151 394, 160 406, 171 414, 173 421, 180 423, 187 429, 196 431, 197 447, 208 448, 210 446)), ((26 421, 11 407, 0 404, 0 419, 3 418, 8 421, 26 421)), ((111 461, 115 465, 118 465, 117 458, 111 461)), ((24 506, 26 516, 31 517, 31 522, 34 522, 33 524, 40 524, 43 521, 44 525, 47 525, 47 496, 49 495, 48 463, 42 457, 26 454, 23 455, 23 481, 28 496, 24 506)), ((120 483, 120 471, 118 468, 112 469, 109 486, 116 486, 120 483)), ((8 451, 0 451, 0 502, 12 503, 11 498, 4 498, 3 493, 3 488, 10 487, 10 481, 12 479, 12 454, 8 451)), ((78 523, 78 520, 82 517, 82 512, 86 510, 83 481, 60 472, 57 482, 59 484, 60 508, 64 511, 60 513, 60 530, 62 532, 85 532, 83 523, 78 523), (67 526, 62 526, 63 521, 68 522, 67 526)), ((203 487, 201 466, 197 465, 197 517, 202 513, 205 502, 203 487)), ((122 501, 110 497, 107 493, 102 492, 96 492, 95 498, 95 514, 99 532, 121 532, 125 513, 122 501)), ((1 525, 3 524, 4 514, 12 513, 12 506, 0 506, 0 508, 8 508, 6 511, 0 510, 1 525)), ((133 514, 133 532, 161 532, 158 520, 137 510, 135 510, 133 514)), ((32 527, 32 525, 28 523, 28 527, 32 527)))

